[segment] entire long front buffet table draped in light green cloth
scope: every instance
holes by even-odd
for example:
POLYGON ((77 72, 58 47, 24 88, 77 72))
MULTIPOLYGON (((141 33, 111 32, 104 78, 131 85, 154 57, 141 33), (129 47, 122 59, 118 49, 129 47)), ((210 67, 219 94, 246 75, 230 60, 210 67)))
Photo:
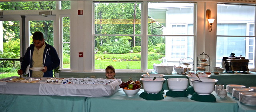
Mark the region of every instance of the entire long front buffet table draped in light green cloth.
MULTIPOLYGON (((168 90, 164 90, 166 93, 168 90)), ((228 93, 220 98, 212 94, 216 102, 198 102, 187 97, 163 100, 145 100, 135 96, 128 97, 122 89, 107 97, 45 96, 0 94, 2 112, 256 112, 256 106, 245 105, 228 93)), ((165 94, 163 94, 165 96, 165 94)))

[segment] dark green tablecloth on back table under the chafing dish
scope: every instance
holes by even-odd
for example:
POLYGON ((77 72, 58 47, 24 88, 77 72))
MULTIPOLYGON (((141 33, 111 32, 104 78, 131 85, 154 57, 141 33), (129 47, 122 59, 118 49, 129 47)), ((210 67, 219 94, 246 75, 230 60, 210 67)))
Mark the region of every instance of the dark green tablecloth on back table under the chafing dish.
MULTIPOLYGON (((224 88, 226 88, 227 84, 239 84, 244 85, 246 88, 250 86, 256 86, 256 73, 251 72, 253 74, 232 74, 232 73, 222 73, 219 75, 211 74, 210 78, 217 79, 218 82, 216 84, 223 84, 225 85, 224 88)), ((157 74, 157 72, 152 71, 151 74, 157 74)), ((165 75, 165 81, 163 82, 163 89, 167 90, 168 84, 167 79, 168 78, 187 78, 185 75, 179 75, 179 74, 164 74, 165 75)))

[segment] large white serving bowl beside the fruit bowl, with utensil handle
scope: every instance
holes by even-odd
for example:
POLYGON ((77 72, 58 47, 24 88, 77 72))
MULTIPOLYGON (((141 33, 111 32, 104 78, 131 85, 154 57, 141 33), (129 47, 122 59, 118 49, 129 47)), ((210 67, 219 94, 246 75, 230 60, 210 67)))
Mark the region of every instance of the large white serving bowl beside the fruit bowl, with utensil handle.
POLYGON ((153 78, 147 77, 147 78, 140 78, 139 80, 142 81, 143 89, 147 93, 157 94, 162 90, 163 81, 165 81, 166 79, 156 78, 155 80, 153 80, 153 78))

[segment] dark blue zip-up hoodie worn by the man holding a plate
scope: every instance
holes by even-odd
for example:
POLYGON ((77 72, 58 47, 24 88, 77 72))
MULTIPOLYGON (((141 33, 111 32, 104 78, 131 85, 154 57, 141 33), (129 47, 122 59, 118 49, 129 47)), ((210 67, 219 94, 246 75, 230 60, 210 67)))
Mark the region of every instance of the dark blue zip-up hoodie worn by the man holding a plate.
MULTIPOLYGON (((32 65, 32 55, 34 52, 34 44, 31 44, 28 49, 26 50, 26 54, 22 58, 21 67, 20 69, 25 72, 28 64, 30 68, 33 67, 32 65)), ((58 58, 58 54, 55 48, 45 42, 44 48, 44 55, 43 55, 43 66, 47 67, 47 71, 44 72, 43 77, 53 77, 52 70, 57 68, 60 65, 60 58, 58 58)), ((32 76, 32 70, 29 70, 28 76, 32 76)))

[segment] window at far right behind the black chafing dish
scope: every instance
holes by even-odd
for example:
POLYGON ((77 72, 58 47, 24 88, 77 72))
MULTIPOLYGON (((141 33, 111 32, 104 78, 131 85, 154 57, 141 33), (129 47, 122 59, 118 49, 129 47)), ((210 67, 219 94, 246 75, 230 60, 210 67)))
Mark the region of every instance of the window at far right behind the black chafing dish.
POLYGON ((248 68, 254 68, 254 20, 255 6, 218 4, 216 66, 234 53, 249 59, 248 68))

